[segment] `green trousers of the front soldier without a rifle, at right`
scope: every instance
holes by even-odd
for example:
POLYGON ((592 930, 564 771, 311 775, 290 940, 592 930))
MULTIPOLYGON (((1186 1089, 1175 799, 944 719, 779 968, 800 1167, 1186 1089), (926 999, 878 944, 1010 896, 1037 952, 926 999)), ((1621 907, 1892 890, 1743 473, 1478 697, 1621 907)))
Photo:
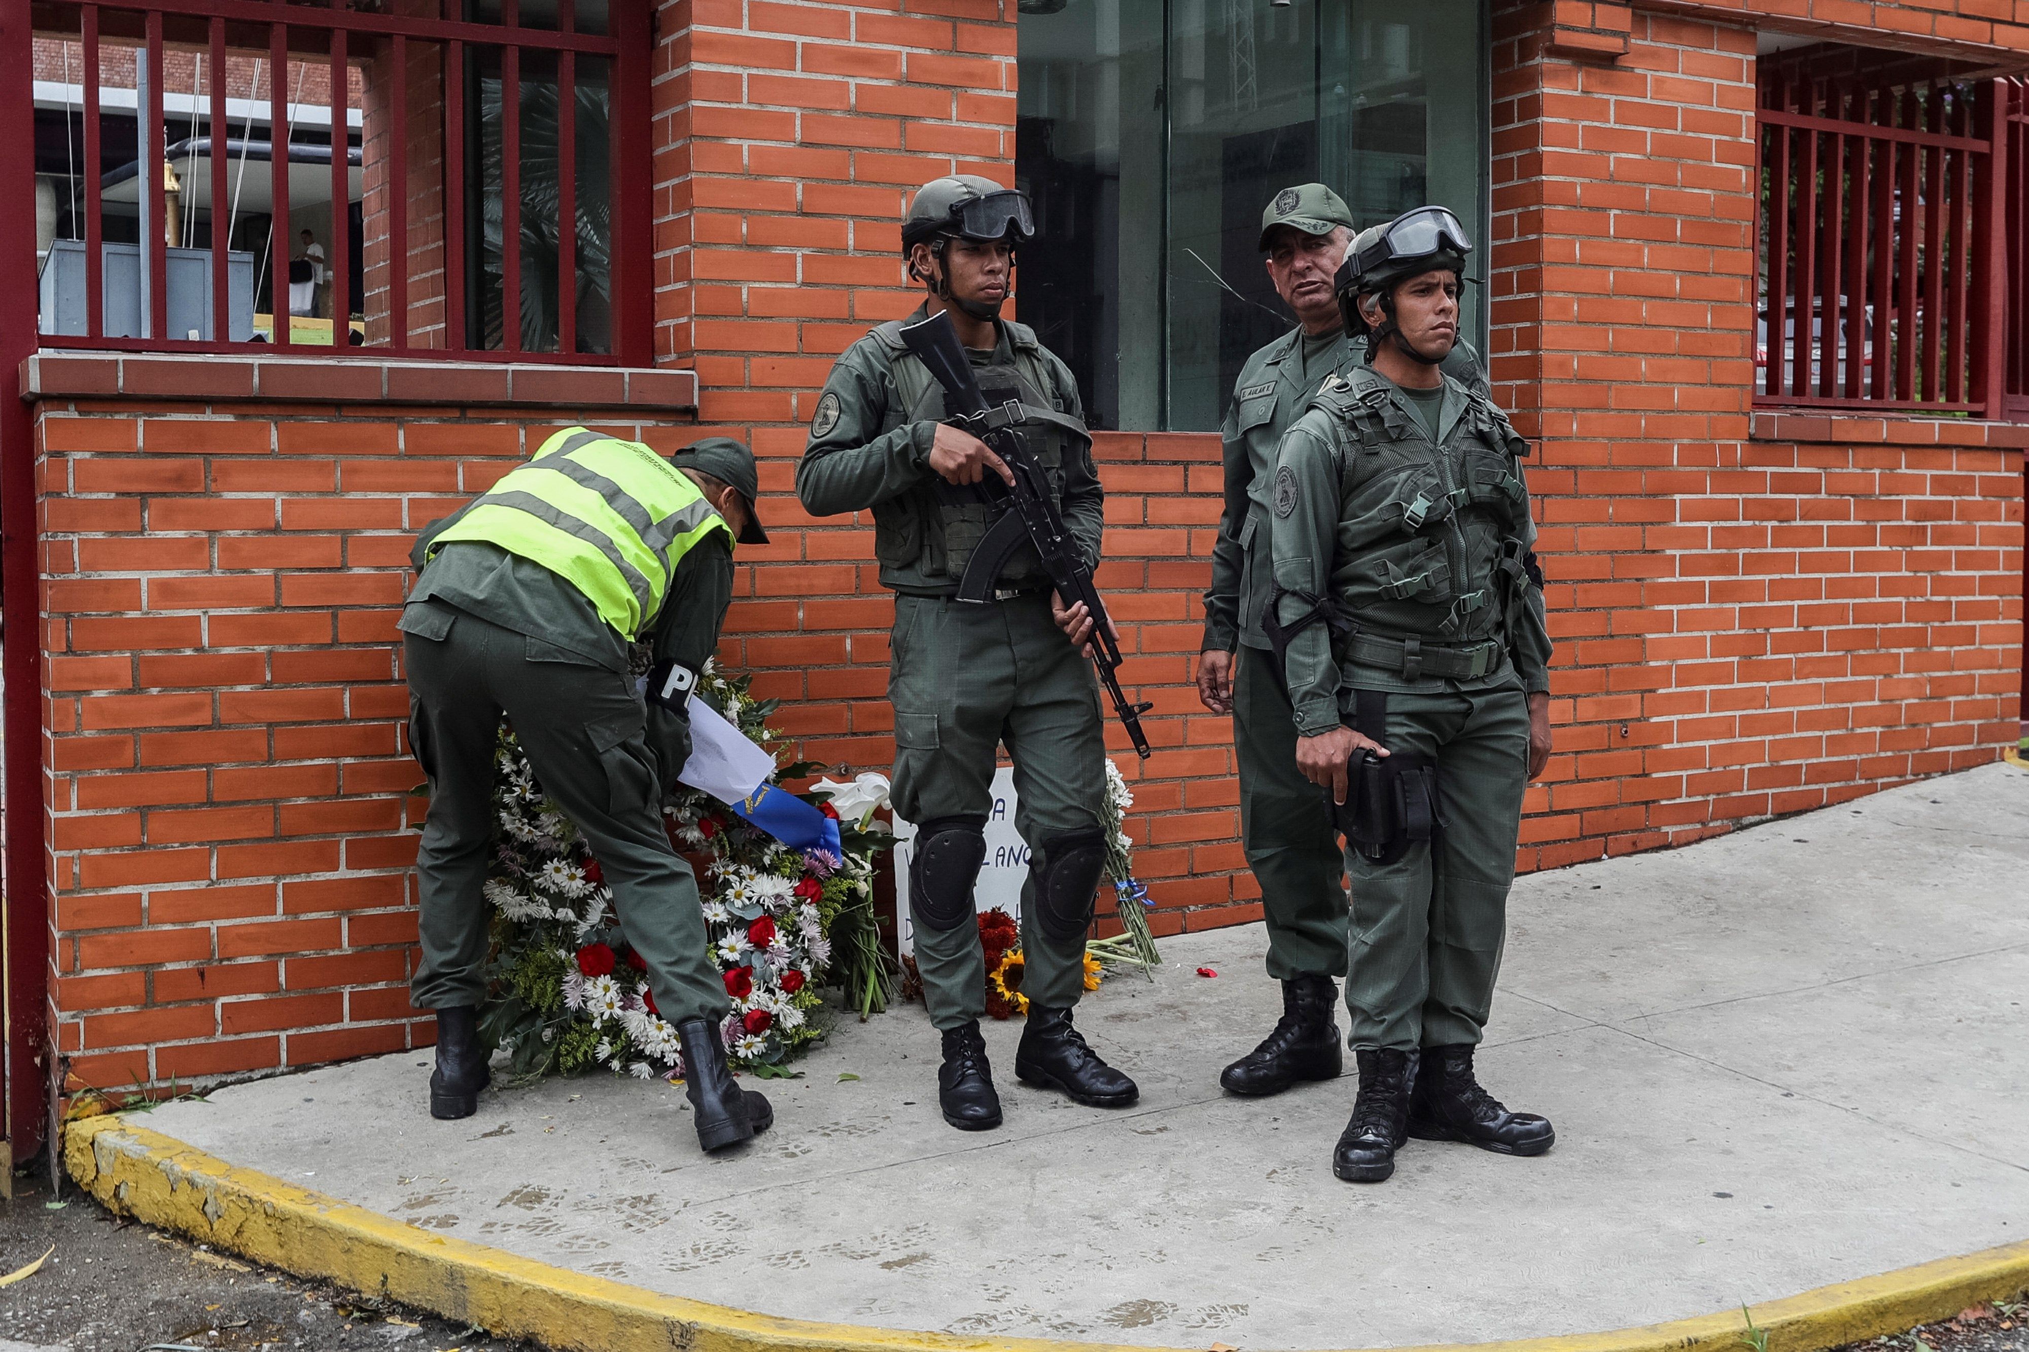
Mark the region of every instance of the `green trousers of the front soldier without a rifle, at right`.
POLYGON ((1477 1044, 1508 934, 1528 786, 1528 695, 1514 677, 1471 693, 1390 691, 1382 744, 1437 758, 1447 825, 1437 841, 1410 845, 1388 866, 1345 851, 1353 882, 1351 1044, 1477 1044))

